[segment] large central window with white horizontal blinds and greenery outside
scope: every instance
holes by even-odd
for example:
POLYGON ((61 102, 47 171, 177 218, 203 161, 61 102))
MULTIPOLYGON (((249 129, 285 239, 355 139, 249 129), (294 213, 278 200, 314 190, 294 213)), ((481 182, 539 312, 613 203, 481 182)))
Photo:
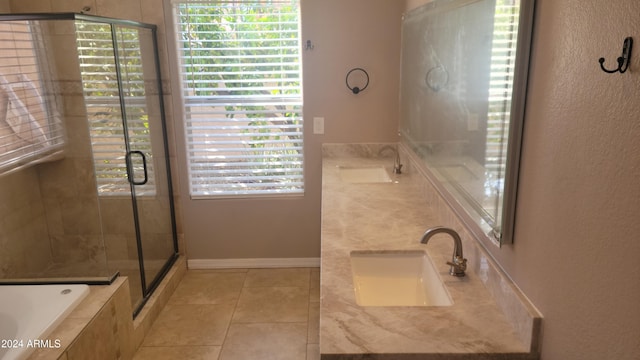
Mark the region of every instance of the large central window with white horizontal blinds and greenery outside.
POLYGON ((298 0, 174 0, 192 198, 302 193, 298 0))

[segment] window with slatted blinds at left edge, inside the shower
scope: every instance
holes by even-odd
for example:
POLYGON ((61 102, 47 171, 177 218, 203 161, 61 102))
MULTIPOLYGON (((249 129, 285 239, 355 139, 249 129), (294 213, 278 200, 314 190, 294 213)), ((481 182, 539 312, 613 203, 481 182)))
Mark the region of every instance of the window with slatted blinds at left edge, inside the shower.
POLYGON ((0 23, 0 174, 51 159, 64 144, 55 99, 43 85, 50 77, 38 30, 28 21, 0 23))

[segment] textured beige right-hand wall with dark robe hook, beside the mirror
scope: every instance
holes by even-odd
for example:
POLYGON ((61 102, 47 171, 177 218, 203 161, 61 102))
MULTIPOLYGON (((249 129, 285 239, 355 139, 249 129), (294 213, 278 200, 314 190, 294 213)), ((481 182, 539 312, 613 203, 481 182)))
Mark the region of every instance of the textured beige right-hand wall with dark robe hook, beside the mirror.
POLYGON ((515 240, 490 250, 544 316, 542 360, 640 356, 640 56, 598 64, 638 14, 537 0, 515 240))

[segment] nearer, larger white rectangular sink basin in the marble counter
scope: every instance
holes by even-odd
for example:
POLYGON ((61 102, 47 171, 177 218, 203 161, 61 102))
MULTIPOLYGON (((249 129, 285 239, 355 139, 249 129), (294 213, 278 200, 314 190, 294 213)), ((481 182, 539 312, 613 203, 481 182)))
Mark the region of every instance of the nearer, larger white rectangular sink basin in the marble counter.
POLYGON ((451 306, 453 301, 424 251, 352 251, 360 306, 451 306))

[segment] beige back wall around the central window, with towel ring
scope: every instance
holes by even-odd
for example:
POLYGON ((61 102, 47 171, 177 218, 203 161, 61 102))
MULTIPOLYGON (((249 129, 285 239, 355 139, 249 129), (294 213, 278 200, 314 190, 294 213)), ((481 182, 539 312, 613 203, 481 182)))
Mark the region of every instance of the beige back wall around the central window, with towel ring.
MULTIPOLYGON (((192 201, 183 196, 190 259, 320 256, 321 144, 397 141, 401 5, 388 0, 302 0, 302 37, 314 45, 303 54, 305 194, 262 200, 192 201), (371 78, 357 96, 345 84, 354 67, 366 69, 371 78), (318 116, 325 118, 325 135, 312 133, 312 119, 318 116)), ((176 125, 176 134, 181 134, 176 125)), ((176 138, 178 153, 184 156, 184 142, 176 138)), ((180 192, 188 194, 186 161, 180 159, 180 192)))

